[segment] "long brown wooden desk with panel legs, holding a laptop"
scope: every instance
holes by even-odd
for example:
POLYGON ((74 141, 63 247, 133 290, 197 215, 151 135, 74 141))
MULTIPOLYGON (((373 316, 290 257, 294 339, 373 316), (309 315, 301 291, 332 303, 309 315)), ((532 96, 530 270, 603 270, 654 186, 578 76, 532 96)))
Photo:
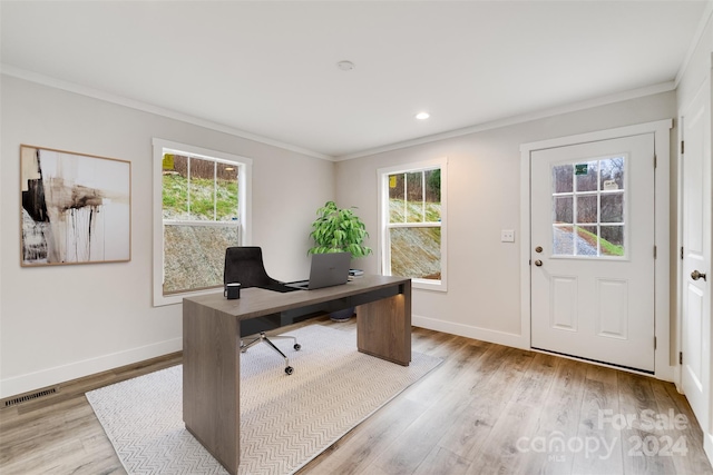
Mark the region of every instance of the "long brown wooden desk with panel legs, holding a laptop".
MULTIPOLYGON (((223 293, 183 300, 183 419, 186 428, 232 474, 240 464, 240 326, 280 314, 285 318, 356 306, 360 352, 408 366, 411 362, 411 280, 364 276, 343 286, 280 294, 246 288, 237 300, 223 293)), ((275 358, 275 372, 282 372, 275 358)), ((292 376, 300 377, 300 367, 292 376)))

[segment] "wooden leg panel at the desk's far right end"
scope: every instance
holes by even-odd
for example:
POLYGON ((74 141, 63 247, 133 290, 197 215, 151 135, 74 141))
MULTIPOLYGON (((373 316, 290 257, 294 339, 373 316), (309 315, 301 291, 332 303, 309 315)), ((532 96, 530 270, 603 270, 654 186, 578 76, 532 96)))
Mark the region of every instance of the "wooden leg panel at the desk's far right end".
POLYGON ((411 363, 411 285, 403 293, 356 309, 360 352, 409 366, 411 363))

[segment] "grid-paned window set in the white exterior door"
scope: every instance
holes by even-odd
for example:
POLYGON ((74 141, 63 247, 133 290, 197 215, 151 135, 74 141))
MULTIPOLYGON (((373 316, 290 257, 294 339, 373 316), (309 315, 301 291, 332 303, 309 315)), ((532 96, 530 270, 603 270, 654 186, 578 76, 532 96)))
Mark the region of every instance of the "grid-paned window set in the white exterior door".
POLYGON ((553 256, 626 257, 626 156, 553 166, 553 256))

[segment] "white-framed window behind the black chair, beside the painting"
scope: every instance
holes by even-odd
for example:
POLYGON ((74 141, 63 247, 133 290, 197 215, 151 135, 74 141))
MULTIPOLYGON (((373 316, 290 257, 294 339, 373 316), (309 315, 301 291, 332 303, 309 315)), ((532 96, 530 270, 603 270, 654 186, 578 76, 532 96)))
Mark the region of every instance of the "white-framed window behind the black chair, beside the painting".
POLYGON ((225 248, 247 243, 251 160, 154 139, 154 305, 223 286, 225 248))

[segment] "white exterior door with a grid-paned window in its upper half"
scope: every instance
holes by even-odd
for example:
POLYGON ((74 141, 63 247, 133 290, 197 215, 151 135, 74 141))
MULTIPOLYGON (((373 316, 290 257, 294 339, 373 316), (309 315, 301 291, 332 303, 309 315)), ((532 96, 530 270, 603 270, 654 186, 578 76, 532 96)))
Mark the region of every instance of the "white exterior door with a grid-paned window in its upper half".
POLYGON ((531 346, 654 372, 654 133, 530 154, 531 346))

